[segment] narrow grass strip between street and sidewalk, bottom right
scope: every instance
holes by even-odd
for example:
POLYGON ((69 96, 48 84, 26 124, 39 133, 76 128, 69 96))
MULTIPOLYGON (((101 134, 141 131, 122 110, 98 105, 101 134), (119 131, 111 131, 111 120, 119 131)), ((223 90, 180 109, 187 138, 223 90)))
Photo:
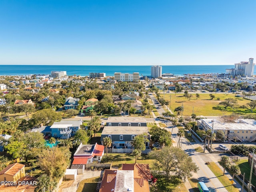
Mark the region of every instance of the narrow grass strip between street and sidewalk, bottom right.
POLYGON ((226 175, 223 175, 223 170, 221 170, 214 162, 210 162, 210 164, 208 164, 207 166, 218 178, 218 180, 223 184, 227 191, 239 192, 238 188, 231 185, 228 177, 226 175))

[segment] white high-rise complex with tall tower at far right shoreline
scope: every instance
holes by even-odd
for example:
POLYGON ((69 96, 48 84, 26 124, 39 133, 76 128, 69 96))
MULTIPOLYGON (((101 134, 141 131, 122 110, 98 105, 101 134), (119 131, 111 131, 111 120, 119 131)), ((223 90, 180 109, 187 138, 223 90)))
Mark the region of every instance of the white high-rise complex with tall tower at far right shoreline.
POLYGON ((230 74, 232 76, 247 76, 252 77, 254 72, 254 63, 253 58, 249 59, 249 62, 242 61, 240 63, 235 64, 235 68, 226 69, 226 74, 230 74))

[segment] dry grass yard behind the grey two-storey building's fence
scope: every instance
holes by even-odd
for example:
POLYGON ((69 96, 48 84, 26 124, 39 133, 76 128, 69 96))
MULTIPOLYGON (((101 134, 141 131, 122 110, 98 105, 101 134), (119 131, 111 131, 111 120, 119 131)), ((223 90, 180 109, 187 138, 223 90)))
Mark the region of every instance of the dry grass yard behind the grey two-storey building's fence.
MULTIPOLYGON (((126 153, 108 153, 108 155, 112 155, 114 158, 112 160, 112 167, 121 168, 122 164, 126 163, 135 163, 135 156, 132 154, 126 153)), ((104 154, 105 156, 106 154, 104 154)), ((142 154, 138 159, 137 163, 141 164, 149 164, 149 167, 153 167, 152 160, 148 158, 148 155, 142 154)))

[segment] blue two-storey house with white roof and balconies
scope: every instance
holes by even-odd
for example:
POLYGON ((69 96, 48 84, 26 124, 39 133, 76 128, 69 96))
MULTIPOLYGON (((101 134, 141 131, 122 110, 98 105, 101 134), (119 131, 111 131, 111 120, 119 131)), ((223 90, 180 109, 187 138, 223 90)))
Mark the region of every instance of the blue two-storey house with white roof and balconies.
POLYGON ((52 136, 54 138, 68 139, 76 134, 76 131, 80 129, 82 120, 79 121, 65 121, 54 122, 50 127, 52 136))

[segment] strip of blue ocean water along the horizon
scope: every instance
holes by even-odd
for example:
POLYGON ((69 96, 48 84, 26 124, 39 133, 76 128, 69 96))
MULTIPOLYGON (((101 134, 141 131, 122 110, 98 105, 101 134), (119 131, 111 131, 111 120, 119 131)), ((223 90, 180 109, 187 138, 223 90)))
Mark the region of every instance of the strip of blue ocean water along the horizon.
MULTIPOLYGON (((162 66, 162 74, 172 73, 180 76, 188 73, 225 73, 228 68, 234 68, 234 65, 169 65, 162 66)), ((66 71, 67 75, 80 76, 88 76, 91 72, 106 73, 106 76, 114 76, 114 72, 139 72, 140 75, 150 76, 151 66, 0 65, 0 75, 50 74, 51 71, 66 71)))

